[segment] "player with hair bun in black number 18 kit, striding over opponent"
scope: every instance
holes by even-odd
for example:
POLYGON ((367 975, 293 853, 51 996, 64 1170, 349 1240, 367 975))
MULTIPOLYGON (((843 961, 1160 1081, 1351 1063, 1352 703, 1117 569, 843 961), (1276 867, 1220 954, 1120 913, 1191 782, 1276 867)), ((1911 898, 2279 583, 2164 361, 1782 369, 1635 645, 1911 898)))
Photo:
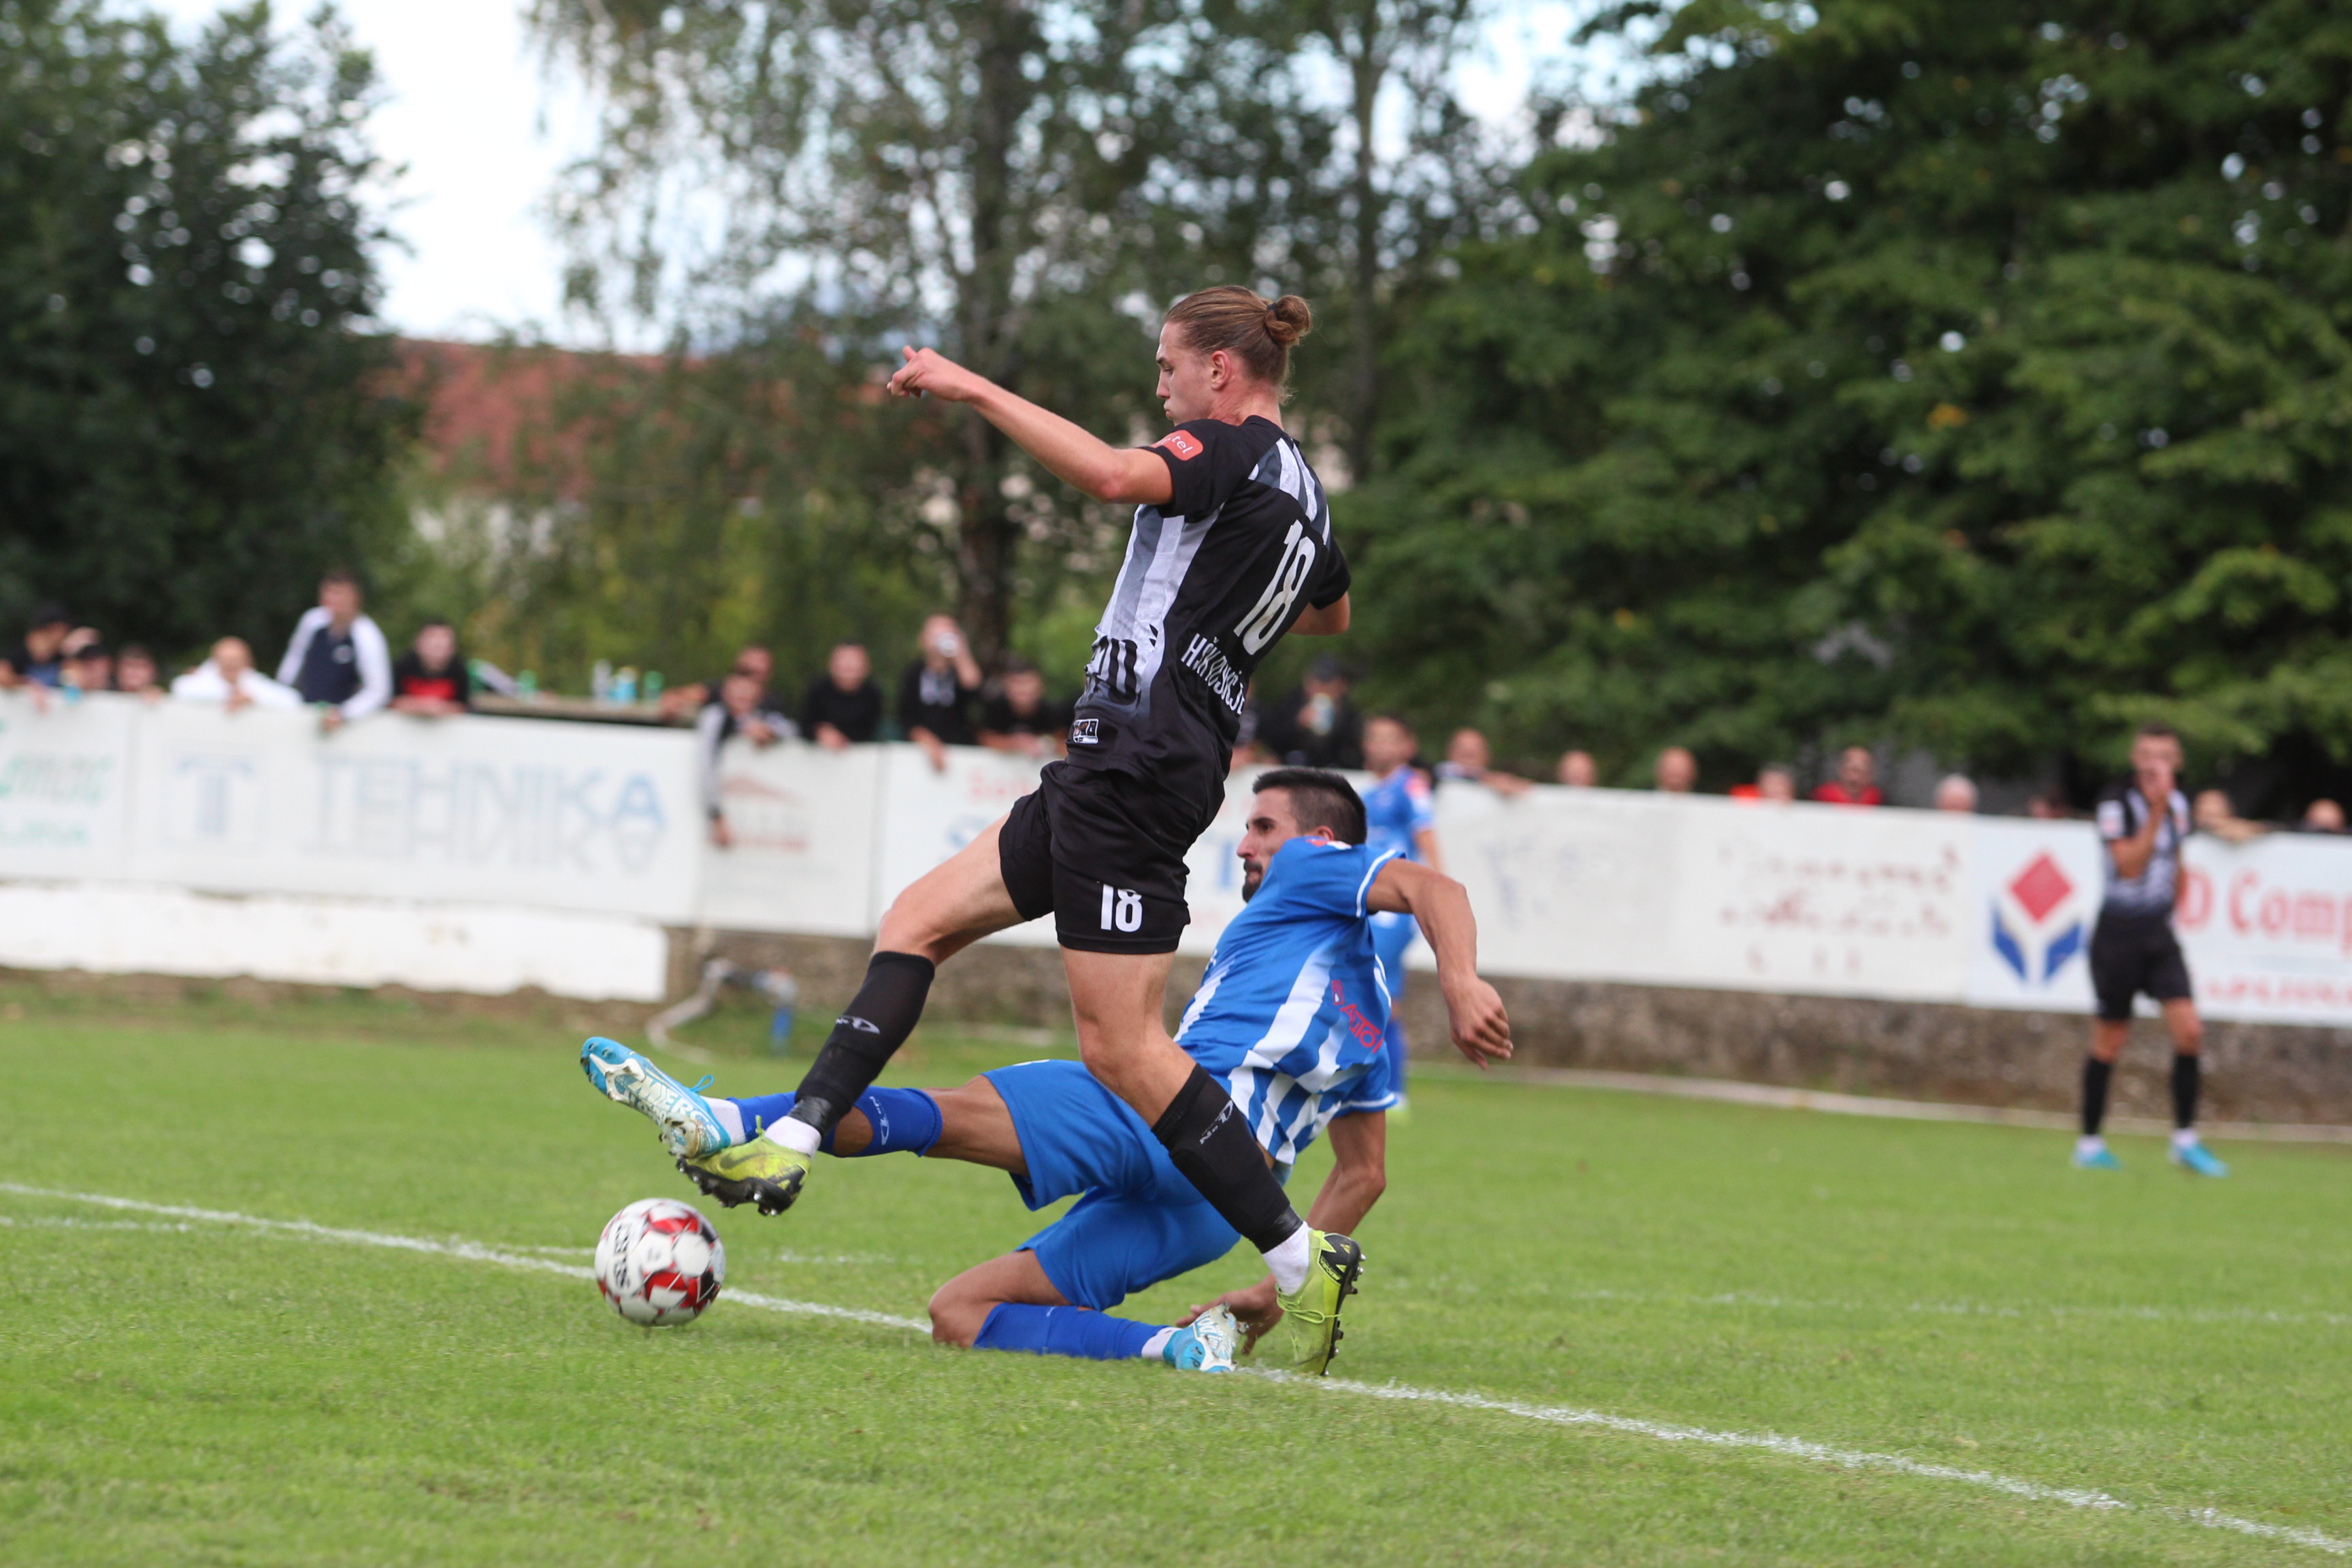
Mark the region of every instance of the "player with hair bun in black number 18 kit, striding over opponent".
POLYGON ((1348 630, 1348 564, 1305 454, 1282 430, 1298 296, 1218 287, 1160 329, 1160 400, 1176 425, 1115 449, 922 348, 889 390, 969 404, 1098 501, 1136 503, 1127 562, 1096 625, 1070 757, 882 917, 849 1011, 760 1138, 680 1161, 710 1197, 793 1204, 826 1133, 915 1027, 936 964, 1047 912, 1087 1067, 1141 1114, 1174 1166, 1263 1255, 1291 1363, 1319 1371, 1362 1248, 1308 1229, 1225 1088, 1162 1025, 1185 910, 1185 851, 1223 804, 1242 701, 1284 632, 1348 630))

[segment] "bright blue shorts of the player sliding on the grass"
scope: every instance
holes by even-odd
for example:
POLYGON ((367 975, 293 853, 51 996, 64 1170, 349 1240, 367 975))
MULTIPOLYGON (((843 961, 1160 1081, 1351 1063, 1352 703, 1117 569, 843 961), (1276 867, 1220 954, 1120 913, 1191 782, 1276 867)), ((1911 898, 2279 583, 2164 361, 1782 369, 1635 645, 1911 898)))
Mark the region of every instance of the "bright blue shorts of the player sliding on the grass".
POLYGON ((1021 1244, 1073 1307, 1122 1300, 1216 1262, 1240 1237, 1169 1161, 1152 1128, 1082 1063, 997 1067, 1028 1175, 1021 1201, 1044 1208, 1084 1197, 1021 1244))

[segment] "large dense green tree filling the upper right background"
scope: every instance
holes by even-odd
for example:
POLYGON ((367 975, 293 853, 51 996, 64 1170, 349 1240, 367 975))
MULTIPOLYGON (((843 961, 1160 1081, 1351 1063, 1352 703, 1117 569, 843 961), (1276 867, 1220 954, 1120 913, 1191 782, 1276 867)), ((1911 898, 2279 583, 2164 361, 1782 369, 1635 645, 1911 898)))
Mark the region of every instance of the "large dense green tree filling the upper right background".
POLYGON ((1376 693, 1621 778, 2352 762, 2352 19, 1693 0, 1653 63, 1392 357, 1376 693))

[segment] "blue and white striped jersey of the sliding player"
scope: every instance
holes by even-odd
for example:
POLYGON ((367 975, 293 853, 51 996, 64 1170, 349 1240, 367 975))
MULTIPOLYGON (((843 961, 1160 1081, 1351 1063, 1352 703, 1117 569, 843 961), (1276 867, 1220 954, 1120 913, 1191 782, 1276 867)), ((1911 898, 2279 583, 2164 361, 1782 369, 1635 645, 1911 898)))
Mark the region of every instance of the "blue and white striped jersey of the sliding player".
POLYGON ((1291 839, 1216 938, 1183 1025, 1192 1060, 1225 1081, 1249 1131, 1289 1166, 1341 1112, 1397 1103, 1381 1039, 1388 983, 1364 900, 1390 849, 1291 839))

